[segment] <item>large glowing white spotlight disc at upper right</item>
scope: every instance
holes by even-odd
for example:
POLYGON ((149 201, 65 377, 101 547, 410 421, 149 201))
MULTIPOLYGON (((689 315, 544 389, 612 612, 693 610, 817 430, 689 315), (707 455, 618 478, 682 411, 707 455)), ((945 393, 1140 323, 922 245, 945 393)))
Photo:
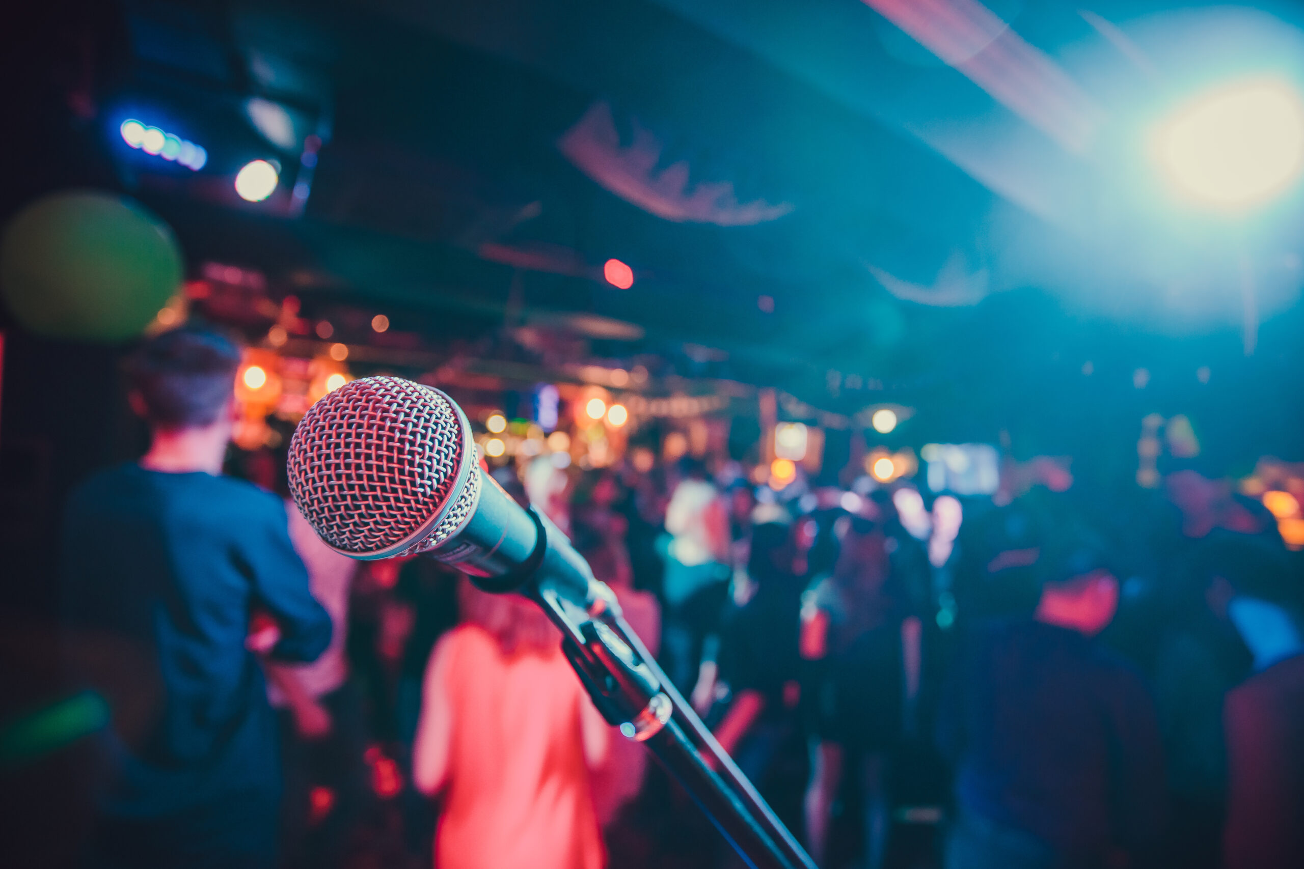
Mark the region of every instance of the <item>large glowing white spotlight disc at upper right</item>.
POLYGON ((1178 109, 1157 146, 1170 180, 1194 199, 1258 205, 1304 171, 1304 100, 1281 81, 1228 85, 1178 109))

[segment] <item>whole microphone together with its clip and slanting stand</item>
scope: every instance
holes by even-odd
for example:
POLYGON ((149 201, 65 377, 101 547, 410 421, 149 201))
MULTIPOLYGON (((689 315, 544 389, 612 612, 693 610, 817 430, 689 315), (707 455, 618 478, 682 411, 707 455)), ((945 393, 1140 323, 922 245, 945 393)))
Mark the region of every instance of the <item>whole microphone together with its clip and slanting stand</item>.
POLYGON ((556 525, 484 472, 447 395, 393 377, 346 383, 299 422, 288 476, 304 519, 336 552, 429 555, 485 591, 533 598, 604 717, 647 743, 751 865, 815 869, 630 631, 615 594, 556 525))

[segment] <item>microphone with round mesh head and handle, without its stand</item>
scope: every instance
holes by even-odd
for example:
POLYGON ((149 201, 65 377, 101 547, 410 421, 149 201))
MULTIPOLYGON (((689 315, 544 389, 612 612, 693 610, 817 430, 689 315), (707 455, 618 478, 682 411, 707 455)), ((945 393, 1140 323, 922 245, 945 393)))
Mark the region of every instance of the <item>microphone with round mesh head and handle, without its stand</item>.
POLYGON ((566 535, 484 472, 471 423, 439 390, 370 377, 329 392, 295 429, 288 476, 304 519, 336 552, 429 555, 494 593, 537 573, 574 606, 618 610, 566 535))

